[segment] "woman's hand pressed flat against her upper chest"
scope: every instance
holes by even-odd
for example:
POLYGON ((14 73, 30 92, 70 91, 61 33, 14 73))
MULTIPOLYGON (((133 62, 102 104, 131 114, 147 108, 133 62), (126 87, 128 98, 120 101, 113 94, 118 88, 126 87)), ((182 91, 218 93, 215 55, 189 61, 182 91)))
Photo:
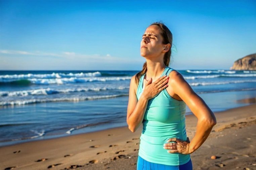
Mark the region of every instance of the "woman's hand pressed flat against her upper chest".
POLYGON ((152 78, 150 78, 144 87, 144 90, 141 95, 143 95, 146 99, 152 99, 154 98, 160 91, 165 89, 168 84, 169 76, 163 76, 158 78, 156 81, 152 82, 152 78), (165 85, 166 84, 166 85, 165 85))

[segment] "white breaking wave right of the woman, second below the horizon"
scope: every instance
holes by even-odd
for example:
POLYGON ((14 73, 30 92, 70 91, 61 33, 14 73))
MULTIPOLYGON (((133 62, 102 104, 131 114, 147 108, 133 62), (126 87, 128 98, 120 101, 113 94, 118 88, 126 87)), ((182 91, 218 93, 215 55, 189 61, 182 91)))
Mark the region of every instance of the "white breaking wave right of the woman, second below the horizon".
POLYGON ((216 77, 256 77, 256 74, 219 74, 219 75, 205 75, 205 76, 183 76, 184 79, 208 79, 216 77))

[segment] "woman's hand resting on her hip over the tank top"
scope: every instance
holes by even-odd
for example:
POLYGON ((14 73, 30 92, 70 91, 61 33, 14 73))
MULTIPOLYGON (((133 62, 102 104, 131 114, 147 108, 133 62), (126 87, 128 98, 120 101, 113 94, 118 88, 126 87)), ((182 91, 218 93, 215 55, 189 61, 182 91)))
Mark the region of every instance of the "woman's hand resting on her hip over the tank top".
POLYGON ((178 138, 170 138, 167 142, 175 141, 177 143, 165 143, 164 149, 169 149, 168 153, 181 153, 181 154, 190 154, 189 149, 189 138, 187 137, 186 141, 181 141, 178 138))

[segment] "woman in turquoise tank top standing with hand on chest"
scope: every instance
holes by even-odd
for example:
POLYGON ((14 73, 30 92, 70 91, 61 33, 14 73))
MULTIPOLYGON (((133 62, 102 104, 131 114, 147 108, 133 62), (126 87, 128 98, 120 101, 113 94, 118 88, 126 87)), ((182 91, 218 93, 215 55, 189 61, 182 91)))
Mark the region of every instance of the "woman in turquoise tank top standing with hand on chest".
POLYGON ((137 170, 191 170, 190 154, 207 139, 216 118, 182 75, 168 67, 172 33, 162 22, 146 28, 140 47, 146 62, 131 78, 127 107, 129 129, 135 132, 143 124, 137 170), (186 105, 198 118, 191 142, 185 130, 186 105))

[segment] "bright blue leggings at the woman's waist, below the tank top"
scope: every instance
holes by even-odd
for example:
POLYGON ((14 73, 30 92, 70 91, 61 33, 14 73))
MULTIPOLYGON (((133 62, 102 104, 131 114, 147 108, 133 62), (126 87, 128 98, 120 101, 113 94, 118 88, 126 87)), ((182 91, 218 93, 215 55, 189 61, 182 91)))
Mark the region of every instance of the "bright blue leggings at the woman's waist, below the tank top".
POLYGON ((192 170, 192 161, 191 159, 183 164, 183 165, 164 165, 164 164, 157 164, 152 163, 144 160, 140 156, 138 156, 137 160, 137 170, 192 170))

